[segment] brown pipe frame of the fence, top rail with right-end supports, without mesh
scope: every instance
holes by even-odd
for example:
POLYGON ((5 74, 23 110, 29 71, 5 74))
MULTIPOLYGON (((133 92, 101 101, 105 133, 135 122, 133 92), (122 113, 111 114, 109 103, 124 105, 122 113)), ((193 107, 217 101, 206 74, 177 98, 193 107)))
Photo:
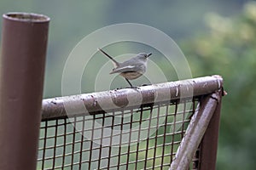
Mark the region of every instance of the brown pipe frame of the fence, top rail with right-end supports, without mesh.
MULTIPOLYGON (((218 126, 223 92, 223 79, 219 76, 199 77, 190 80, 165 82, 138 89, 119 89, 92 94, 80 94, 54 99, 44 99, 42 108, 42 121, 63 119, 79 115, 97 115, 111 111, 123 111, 134 105, 127 105, 127 96, 133 99, 142 96, 144 106, 154 105, 156 96, 158 102, 166 102, 166 94, 171 96, 171 101, 181 98, 189 98, 189 92, 193 91, 193 97, 201 96, 198 111, 191 119, 186 135, 179 147, 176 158, 172 161, 170 169, 188 169, 189 163, 197 159, 197 169, 215 169, 218 148, 218 126), (184 90, 185 89, 185 90, 184 90), (164 97, 161 98, 161 95, 164 97), (109 101, 121 107, 107 107, 102 110, 101 105, 108 106, 109 101), (81 112, 78 103, 82 103, 86 110, 81 112), (101 103, 101 105, 99 105, 101 103), (73 111, 67 114, 65 105, 72 106, 73 111), (197 148, 200 145, 200 149, 197 148), (196 151, 197 150, 197 151, 196 151), (195 156, 197 154, 197 156, 195 156)), ((191 97, 191 96, 190 96, 191 97)), ((170 101, 170 102, 171 102, 170 101)), ((135 104, 136 105, 136 104, 135 104)), ((195 164, 194 162, 194 164, 195 164)), ((171 162, 170 162, 171 164, 171 162)))

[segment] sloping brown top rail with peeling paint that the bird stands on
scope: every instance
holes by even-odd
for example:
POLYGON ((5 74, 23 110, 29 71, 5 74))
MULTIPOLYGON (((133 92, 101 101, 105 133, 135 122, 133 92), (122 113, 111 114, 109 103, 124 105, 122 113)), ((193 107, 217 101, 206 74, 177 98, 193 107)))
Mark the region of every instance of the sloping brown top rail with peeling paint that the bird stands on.
POLYGON ((212 76, 158 83, 138 88, 124 88, 44 99, 42 121, 65 118, 67 115, 96 114, 102 113, 102 111, 117 111, 122 108, 127 109, 139 105, 192 98, 211 94, 222 88, 222 86, 222 77, 212 76), (81 105, 84 110, 81 109, 81 105))

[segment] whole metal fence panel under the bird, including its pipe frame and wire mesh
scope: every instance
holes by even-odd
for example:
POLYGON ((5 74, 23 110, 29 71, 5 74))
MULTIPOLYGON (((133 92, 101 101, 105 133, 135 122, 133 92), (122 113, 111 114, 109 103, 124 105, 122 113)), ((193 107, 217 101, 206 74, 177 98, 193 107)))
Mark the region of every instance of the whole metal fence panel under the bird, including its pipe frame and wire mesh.
POLYGON ((213 76, 44 99, 38 169, 215 169, 221 94, 213 76))

